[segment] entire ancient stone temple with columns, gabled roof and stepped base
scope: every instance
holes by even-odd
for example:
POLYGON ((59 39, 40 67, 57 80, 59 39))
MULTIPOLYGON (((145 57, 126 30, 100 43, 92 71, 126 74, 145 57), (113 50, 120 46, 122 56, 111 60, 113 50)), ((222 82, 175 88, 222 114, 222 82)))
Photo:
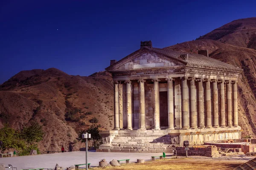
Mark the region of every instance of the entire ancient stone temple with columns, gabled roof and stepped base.
POLYGON ((241 138, 237 80, 242 69, 153 48, 151 41, 106 68, 113 75, 114 129, 97 151, 157 152, 167 145, 241 138))

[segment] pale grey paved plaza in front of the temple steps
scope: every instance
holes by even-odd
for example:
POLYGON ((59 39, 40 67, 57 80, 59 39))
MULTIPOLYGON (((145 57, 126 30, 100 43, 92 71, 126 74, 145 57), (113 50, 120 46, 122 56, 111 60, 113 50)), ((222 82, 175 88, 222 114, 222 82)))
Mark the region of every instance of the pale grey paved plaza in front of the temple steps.
MULTIPOLYGON (((88 152, 88 163, 91 166, 99 166, 100 159, 106 159, 110 162, 112 159, 130 159, 131 162, 137 162, 137 159, 151 160, 151 156, 159 156, 162 153, 108 153, 108 152, 88 152)), ((166 155, 172 155, 167 153, 166 155)), ((124 161, 125 162, 125 161, 124 161)), ((85 152, 65 152, 42 154, 35 156, 16 156, 0 158, 0 164, 11 164, 13 167, 20 168, 55 168, 56 164, 67 168, 74 164, 85 163, 85 152)))

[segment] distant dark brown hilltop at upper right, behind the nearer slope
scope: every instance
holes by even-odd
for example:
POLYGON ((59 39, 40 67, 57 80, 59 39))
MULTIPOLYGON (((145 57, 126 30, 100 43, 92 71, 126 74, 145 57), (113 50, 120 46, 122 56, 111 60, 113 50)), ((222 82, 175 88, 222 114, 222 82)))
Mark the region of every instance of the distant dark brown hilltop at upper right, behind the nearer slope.
POLYGON ((256 17, 234 20, 199 37, 198 40, 216 40, 256 49, 256 17))

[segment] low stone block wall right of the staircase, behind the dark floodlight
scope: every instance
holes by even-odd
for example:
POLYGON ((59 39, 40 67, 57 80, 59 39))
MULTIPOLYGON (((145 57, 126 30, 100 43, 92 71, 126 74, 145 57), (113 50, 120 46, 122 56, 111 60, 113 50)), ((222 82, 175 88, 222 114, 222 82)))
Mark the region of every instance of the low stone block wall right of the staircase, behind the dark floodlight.
MULTIPOLYGON (((176 147, 178 156, 186 156, 185 147, 176 147)), ((220 154, 216 146, 195 146, 189 147, 188 156, 208 156, 208 157, 219 157, 220 154)))

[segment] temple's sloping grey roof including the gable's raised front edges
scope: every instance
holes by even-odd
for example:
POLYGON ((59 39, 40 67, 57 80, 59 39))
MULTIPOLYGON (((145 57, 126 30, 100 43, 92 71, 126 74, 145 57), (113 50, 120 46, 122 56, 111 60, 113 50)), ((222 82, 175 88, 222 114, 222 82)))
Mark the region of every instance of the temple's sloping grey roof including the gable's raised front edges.
POLYGON ((227 64, 225 62, 221 62, 217 59, 213 59, 201 54, 186 54, 179 51, 172 51, 162 48, 153 48, 153 47, 141 47, 139 50, 135 51, 132 54, 129 54, 128 56, 124 57, 123 59, 119 60, 118 62, 114 63, 113 65, 106 68, 107 71, 112 71, 112 68, 117 65, 122 65, 123 62, 128 62, 129 59, 134 57, 135 55, 143 52, 148 51, 155 54, 162 54, 165 57, 169 59, 175 59, 178 62, 182 62, 185 65, 189 67, 195 67, 195 68, 209 68, 209 69, 215 69, 215 70, 221 70, 221 71, 235 71, 235 72, 241 72, 242 69, 235 67, 233 65, 227 64), (182 59, 182 55, 188 55, 187 59, 182 59))

